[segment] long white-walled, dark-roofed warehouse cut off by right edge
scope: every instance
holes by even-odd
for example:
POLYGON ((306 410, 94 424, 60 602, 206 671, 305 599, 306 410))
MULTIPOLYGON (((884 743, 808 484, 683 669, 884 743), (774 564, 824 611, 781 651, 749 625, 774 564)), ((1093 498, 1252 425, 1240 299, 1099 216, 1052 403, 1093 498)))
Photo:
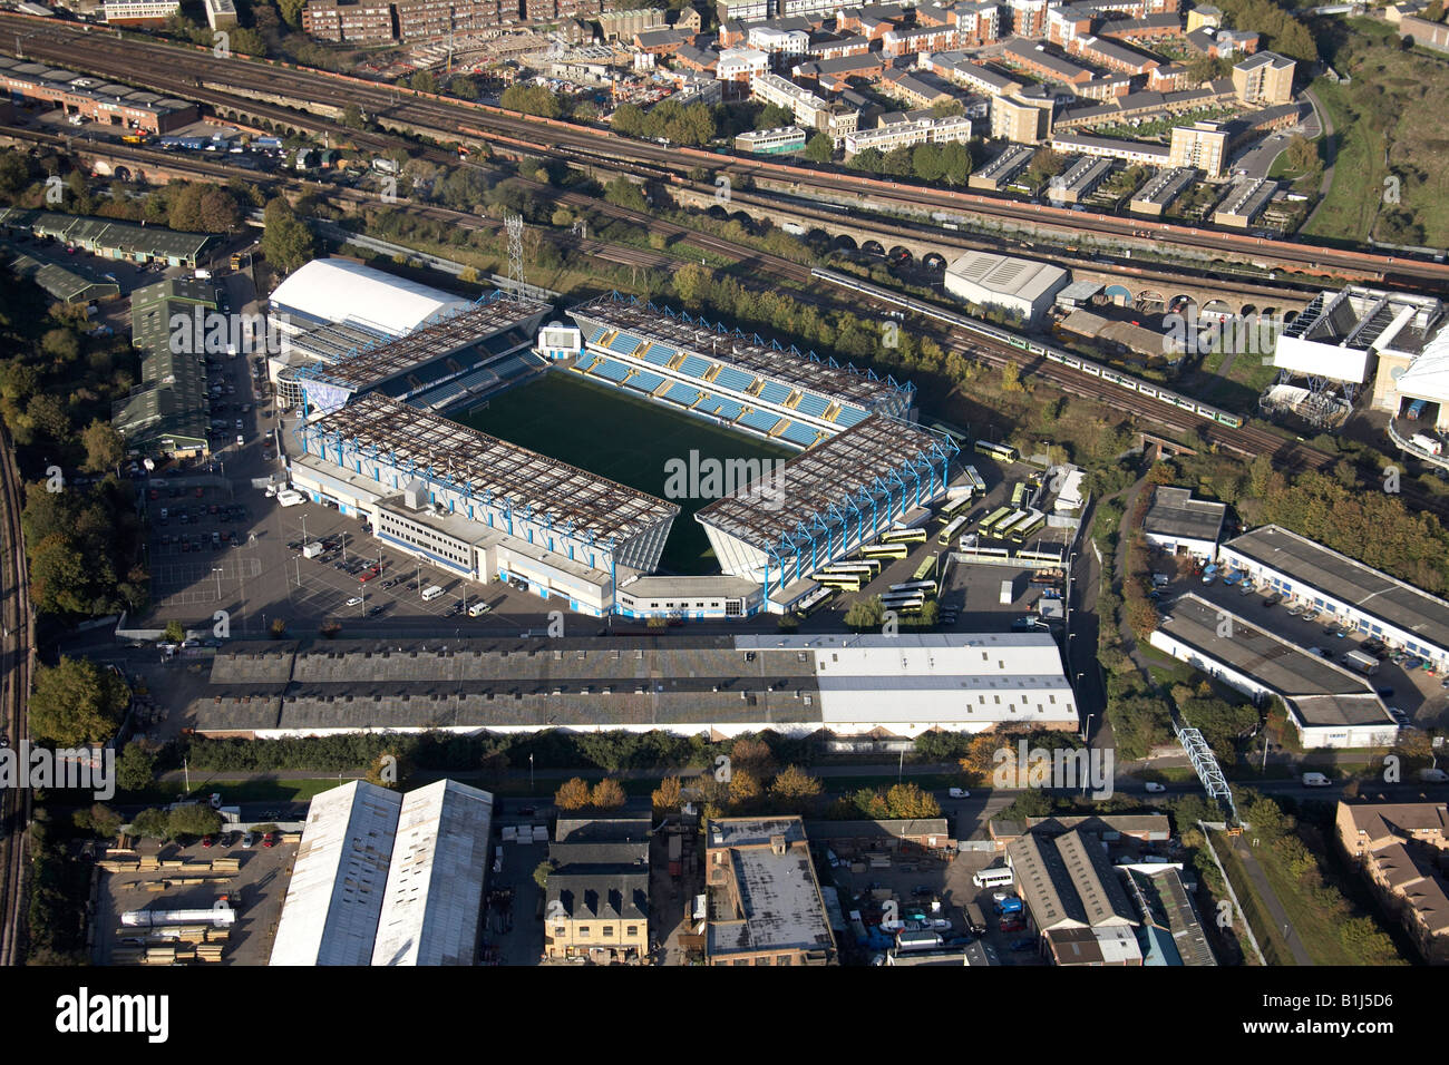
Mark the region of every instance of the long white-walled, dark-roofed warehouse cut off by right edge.
POLYGON ((1339 625, 1378 636, 1449 669, 1449 603, 1411 584, 1265 525, 1224 543, 1219 561, 1268 584, 1284 598, 1311 603, 1339 625))

